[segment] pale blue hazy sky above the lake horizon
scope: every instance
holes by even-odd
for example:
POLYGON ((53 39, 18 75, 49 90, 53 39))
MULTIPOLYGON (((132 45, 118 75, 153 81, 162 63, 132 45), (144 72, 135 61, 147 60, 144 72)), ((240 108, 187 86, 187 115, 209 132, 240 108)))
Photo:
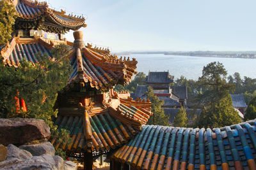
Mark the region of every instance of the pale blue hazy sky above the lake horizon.
POLYGON ((47 1, 86 15, 84 41, 113 52, 256 50, 255 0, 47 1))

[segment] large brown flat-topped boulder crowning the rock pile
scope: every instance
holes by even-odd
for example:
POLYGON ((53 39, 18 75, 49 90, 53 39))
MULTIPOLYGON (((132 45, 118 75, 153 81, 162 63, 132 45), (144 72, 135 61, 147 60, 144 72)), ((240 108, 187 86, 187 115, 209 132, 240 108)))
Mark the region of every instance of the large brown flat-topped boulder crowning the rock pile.
POLYGON ((24 144, 35 139, 48 138, 50 127, 35 118, 0 118, 0 143, 24 144))

